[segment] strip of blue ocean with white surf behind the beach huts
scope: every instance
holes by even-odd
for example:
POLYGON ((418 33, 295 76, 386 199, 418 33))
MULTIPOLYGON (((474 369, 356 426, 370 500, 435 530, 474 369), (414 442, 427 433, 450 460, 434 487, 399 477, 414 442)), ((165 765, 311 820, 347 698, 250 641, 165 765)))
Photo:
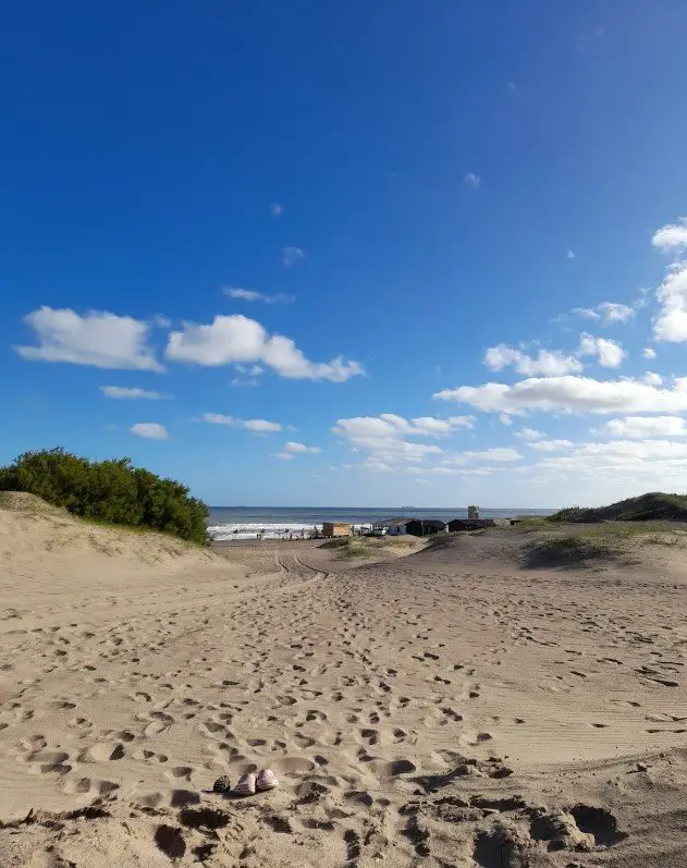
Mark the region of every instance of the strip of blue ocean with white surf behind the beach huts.
MULTIPOLYGON (((551 515, 555 510, 490 510, 480 509, 480 518, 507 518, 515 515, 551 515)), ((320 530, 322 522, 347 522, 368 527, 373 522, 404 516, 406 518, 467 518, 464 506, 417 509, 415 506, 213 506, 208 519, 208 533, 217 541, 252 539, 258 536, 281 539, 293 535, 307 537, 320 530)))

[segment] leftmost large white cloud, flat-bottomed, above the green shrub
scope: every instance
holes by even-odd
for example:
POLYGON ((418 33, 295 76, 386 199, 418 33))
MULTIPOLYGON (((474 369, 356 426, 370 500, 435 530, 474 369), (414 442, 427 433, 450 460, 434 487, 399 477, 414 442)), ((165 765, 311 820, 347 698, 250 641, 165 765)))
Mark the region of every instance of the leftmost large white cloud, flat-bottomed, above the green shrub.
POLYGON ((106 310, 79 316, 71 308, 40 307, 24 317, 38 346, 15 346, 32 362, 70 362, 97 368, 162 370, 146 345, 148 325, 106 310))

